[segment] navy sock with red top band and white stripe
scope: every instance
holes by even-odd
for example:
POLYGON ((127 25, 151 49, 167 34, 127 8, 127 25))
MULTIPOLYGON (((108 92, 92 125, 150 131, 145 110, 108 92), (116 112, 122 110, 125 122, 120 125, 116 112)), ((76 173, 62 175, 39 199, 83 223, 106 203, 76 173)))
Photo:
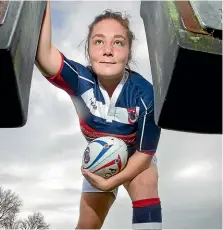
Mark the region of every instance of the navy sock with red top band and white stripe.
POLYGON ((133 229, 162 229, 162 212, 159 198, 136 200, 133 204, 133 229))

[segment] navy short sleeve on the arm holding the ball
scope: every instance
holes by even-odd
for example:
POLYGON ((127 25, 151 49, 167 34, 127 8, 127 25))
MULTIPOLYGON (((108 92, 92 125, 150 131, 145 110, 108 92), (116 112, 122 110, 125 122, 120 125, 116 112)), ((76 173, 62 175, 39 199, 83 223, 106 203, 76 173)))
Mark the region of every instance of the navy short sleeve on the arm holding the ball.
POLYGON ((149 155, 154 155, 158 147, 161 128, 155 124, 154 120, 154 99, 146 103, 141 99, 141 113, 138 119, 138 131, 136 136, 137 151, 149 155))

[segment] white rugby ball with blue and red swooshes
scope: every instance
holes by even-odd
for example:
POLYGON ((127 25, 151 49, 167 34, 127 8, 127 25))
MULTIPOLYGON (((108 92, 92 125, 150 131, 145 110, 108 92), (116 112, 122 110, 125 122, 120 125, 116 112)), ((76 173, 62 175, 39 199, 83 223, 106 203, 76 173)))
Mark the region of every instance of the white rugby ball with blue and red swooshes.
POLYGON ((88 144, 82 158, 82 166, 107 179, 122 171, 127 160, 126 143, 119 138, 106 136, 96 138, 88 144))

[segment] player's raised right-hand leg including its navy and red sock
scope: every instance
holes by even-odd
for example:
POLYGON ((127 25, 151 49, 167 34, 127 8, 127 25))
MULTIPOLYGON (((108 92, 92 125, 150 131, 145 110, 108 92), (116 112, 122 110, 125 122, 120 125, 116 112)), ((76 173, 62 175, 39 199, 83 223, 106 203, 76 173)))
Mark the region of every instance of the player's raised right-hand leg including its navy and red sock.
POLYGON ((125 183, 124 187, 132 199, 133 229, 161 229, 162 213, 155 156, 148 169, 125 183))

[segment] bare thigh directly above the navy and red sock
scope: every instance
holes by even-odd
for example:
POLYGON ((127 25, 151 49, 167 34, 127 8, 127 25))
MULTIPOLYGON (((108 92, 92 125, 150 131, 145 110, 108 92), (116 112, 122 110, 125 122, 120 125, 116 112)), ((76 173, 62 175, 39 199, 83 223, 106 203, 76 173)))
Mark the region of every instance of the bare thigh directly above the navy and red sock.
POLYGON ((146 170, 124 184, 132 201, 158 197, 158 169, 156 157, 146 170))

